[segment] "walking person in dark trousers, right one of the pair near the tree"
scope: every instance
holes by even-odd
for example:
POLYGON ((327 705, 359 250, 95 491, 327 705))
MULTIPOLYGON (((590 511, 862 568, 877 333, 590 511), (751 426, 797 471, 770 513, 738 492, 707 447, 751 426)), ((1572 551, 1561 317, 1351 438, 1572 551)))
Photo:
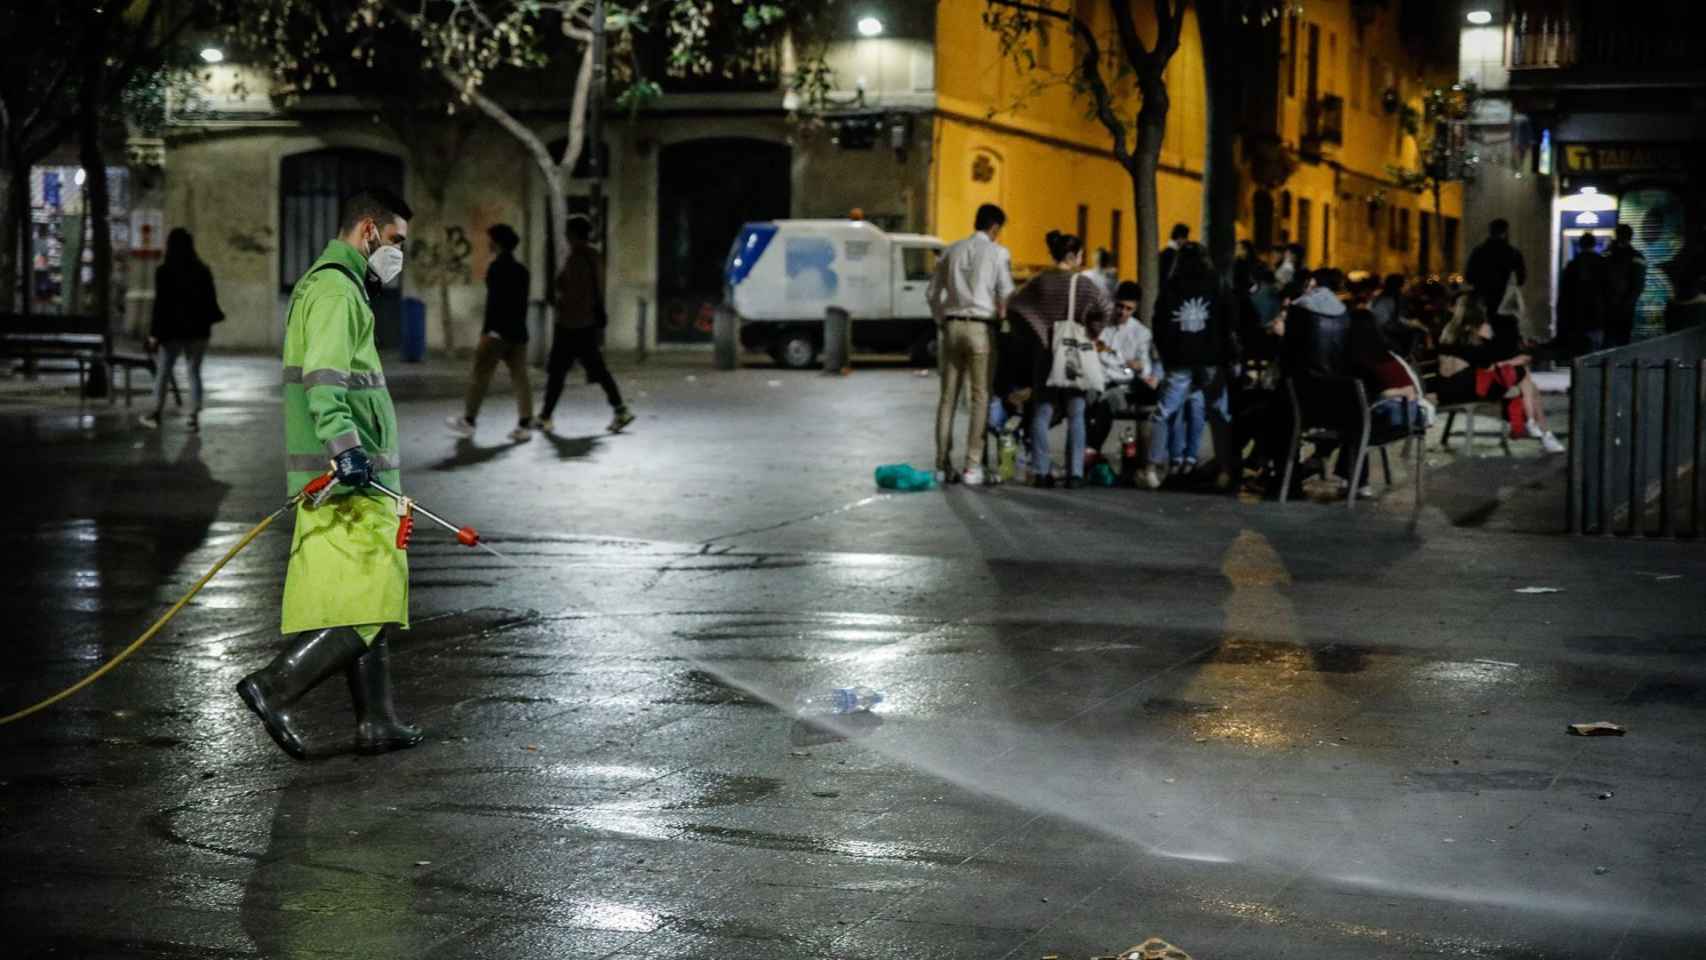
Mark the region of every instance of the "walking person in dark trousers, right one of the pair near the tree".
POLYGON ((621 433, 635 421, 633 411, 623 402, 616 377, 604 365, 604 327, 609 314, 604 309, 604 261, 592 249, 592 220, 570 217, 568 259, 556 276, 556 329, 551 333, 551 360, 546 365, 544 406, 539 408, 536 426, 549 433, 556 425, 556 401, 563 396, 563 380, 578 360, 587 370, 587 382, 604 387, 611 404, 611 433, 621 433))

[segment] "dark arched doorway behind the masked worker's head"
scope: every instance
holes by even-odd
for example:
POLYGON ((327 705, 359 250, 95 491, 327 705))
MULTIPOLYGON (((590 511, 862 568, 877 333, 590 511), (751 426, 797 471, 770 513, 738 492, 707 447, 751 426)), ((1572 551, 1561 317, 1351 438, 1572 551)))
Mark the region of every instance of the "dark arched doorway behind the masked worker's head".
MULTIPOLYGON (((377 150, 334 147, 292 153, 278 176, 278 293, 290 288, 338 235, 338 206, 363 188, 403 196, 403 159, 377 150)), ((374 298, 374 341, 380 350, 403 343, 403 290, 389 286, 374 298)))

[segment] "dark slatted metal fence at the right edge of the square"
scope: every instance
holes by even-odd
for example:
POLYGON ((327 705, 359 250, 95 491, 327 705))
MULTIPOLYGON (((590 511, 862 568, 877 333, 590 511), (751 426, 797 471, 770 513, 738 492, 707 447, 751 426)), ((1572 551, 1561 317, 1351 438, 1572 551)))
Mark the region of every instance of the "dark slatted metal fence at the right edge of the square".
POLYGON ((1570 532, 1706 537, 1706 327, 1576 358, 1570 532))

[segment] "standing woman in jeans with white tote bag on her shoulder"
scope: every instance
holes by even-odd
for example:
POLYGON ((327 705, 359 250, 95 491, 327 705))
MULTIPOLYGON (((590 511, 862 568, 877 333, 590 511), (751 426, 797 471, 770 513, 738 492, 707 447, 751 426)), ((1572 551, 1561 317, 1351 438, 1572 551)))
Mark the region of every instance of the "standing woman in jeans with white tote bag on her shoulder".
MULTIPOLYGON (((1049 230, 1046 237, 1054 268, 1030 278, 1029 283, 1013 293, 1008 305, 1013 315, 1024 319, 1024 326, 1036 334, 1036 346, 1041 346, 1032 380, 1030 401, 1030 469, 1036 474, 1036 486, 1053 488, 1054 476, 1049 472, 1049 426, 1054 423, 1054 411, 1065 411, 1066 419, 1066 488, 1083 484, 1083 450, 1085 450, 1085 408, 1090 394, 1102 389, 1102 361, 1095 356, 1094 341, 1083 344, 1066 343, 1065 346, 1083 351, 1088 348, 1088 360, 1095 370, 1078 370, 1085 387, 1068 387, 1059 380, 1051 384, 1056 372, 1056 353, 1061 350, 1058 324, 1076 321, 1088 327, 1092 319, 1107 321, 1112 312, 1102 286, 1083 273, 1083 240, 1059 230, 1049 230)), ((1061 370, 1071 377, 1073 370, 1061 370)))

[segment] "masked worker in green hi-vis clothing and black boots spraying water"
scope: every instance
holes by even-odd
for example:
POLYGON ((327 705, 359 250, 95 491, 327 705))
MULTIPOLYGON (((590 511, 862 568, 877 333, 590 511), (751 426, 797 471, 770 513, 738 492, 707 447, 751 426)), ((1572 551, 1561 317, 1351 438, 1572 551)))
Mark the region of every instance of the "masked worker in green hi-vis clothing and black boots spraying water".
POLYGON ((397 720, 386 634, 409 624, 409 564, 397 512, 370 484, 403 489, 397 414, 374 346, 367 278, 403 273, 409 208, 384 189, 343 205, 339 234, 290 293, 285 321, 285 481, 292 493, 326 472, 336 486, 297 505, 285 571, 285 650, 237 684, 237 696, 292 757, 307 749, 290 706, 343 670, 363 754, 401 750, 421 732, 397 720))

